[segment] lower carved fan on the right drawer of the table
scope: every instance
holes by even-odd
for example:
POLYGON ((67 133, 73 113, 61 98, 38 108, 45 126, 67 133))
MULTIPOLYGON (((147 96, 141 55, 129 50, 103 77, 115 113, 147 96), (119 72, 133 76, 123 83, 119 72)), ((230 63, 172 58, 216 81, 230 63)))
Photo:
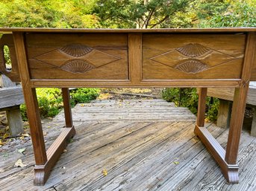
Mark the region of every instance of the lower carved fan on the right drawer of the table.
POLYGON ((185 73, 192 73, 192 74, 205 71, 207 70, 207 68, 208 66, 205 65, 205 63, 200 62, 199 60, 196 60, 196 59, 189 59, 175 66, 175 69, 177 69, 178 71, 183 71, 185 73))

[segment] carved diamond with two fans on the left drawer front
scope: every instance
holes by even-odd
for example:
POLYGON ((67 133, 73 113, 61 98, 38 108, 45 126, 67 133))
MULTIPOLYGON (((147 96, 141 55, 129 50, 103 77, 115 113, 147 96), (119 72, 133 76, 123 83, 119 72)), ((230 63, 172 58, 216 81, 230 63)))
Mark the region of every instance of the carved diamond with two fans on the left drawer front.
POLYGON ((54 65, 63 71, 86 73, 94 68, 116 62, 121 58, 90 48, 87 45, 71 44, 35 56, 34 59, 54 65))

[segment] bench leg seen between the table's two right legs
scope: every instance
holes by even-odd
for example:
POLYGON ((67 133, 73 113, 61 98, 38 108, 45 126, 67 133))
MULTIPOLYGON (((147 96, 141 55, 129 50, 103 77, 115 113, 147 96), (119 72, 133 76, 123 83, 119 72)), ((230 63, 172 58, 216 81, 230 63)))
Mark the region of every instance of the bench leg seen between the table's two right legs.
POLYGON ((218 111, 218 119, 217 126, 222 128, 228 128, 231 117, 231 109, 232 104, 231 101, 228 100, 219 100, 219 111, 218 111))

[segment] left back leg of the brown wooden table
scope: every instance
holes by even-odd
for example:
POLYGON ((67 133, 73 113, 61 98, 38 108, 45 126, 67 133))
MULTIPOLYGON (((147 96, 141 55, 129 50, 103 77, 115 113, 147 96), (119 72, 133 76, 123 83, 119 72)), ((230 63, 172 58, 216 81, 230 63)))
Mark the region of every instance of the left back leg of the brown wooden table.
POLYGON ((71 106, 69 102, 69 88, 61 88, 61 90, 62 90, 62 97, 63 97, 63 107, 64 107, 66 127, 72 127, 73 122, 72 122, 71 106))

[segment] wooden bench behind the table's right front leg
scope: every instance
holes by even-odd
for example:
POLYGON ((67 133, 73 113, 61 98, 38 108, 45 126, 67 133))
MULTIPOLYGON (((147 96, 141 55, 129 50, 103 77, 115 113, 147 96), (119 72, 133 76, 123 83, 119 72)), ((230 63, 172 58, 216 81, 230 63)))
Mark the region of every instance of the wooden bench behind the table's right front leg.
MULTIPOLYGON (((217 126, 228 128, 234 99, 234 88, 208 88, 207 96, 219 98, 217 126)), ((250 82, 246 106, 256 108, 256 82, 250 82)), ((253 111, 251 135, 256 137, 256 109, 253 111)))

